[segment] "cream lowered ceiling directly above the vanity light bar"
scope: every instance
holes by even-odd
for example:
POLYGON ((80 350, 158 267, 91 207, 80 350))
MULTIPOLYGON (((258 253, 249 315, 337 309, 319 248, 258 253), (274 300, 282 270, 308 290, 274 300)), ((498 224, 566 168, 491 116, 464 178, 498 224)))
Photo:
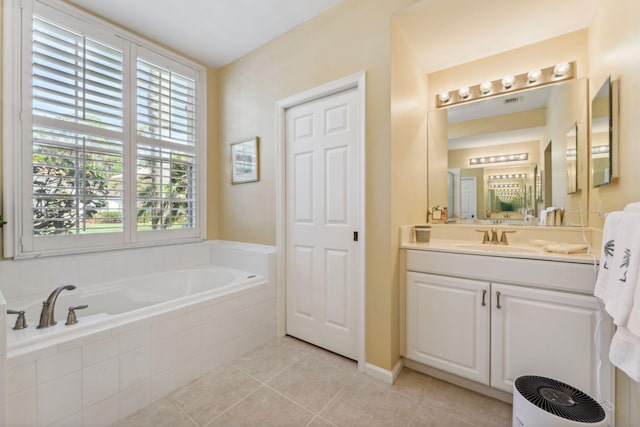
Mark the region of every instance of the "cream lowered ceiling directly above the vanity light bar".
POLYGON ((594 0, 422 0, 394 19, 431 73, 589 27, 594 0))

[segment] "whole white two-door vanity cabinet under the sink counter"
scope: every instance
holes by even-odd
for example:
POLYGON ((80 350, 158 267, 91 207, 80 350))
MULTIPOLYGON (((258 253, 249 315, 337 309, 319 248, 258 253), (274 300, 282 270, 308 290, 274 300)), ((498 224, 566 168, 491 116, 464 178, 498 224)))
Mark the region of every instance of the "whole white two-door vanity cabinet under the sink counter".
MULTIPOLYGON (((528 374, 596 397, 596 330, 608 343, 612 327, 608 318, 598 326, 585 280, 593 286, 592 265, 407 250, 404 356, 506 392, 528 374), (547 271, 558 268, 570 271, 560 284, 547 271), (516 274, 508 280, 505 271, 516 274)), ((610 400, 612 369, 607 350, 601 354, 601 392, 610 400)))

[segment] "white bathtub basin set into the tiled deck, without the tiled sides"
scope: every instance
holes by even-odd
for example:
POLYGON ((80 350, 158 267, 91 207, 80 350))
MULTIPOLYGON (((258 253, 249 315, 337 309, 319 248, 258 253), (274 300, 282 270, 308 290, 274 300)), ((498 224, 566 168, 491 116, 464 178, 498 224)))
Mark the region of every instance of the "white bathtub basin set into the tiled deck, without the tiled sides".
POLYGON ((55 304, 57 324, 42 329, 36 327, 42 302, 48 295, 36 300, 9 300, 8 307, 25 311, 28 327, 13 330, 14 318, 9 319, 7 351, 11 357, 30 351, 34 345, 41 348, 52 343, 59 344, 179 308, 211 302, 264 284, 266 279, 259 274, 221 266, 205 266, 77 286, 58 295, 55 304), (80 305, 88 307, 76 311, 78 323, 65 325, 69 307, 80 305))

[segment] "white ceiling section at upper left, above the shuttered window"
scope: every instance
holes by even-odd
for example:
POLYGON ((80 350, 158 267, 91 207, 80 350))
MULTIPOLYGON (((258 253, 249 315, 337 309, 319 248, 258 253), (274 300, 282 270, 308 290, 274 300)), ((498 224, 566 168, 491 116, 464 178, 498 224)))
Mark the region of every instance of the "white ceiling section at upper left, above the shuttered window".
POLYGON ((341 0, 67 0, 210 67, 222 67, 341 0))

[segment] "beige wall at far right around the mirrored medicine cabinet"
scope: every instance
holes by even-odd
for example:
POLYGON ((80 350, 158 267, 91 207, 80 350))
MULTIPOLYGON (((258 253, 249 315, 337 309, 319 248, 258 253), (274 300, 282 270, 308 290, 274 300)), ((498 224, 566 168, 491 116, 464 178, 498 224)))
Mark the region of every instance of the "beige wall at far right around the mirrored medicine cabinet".
MULTIPOLYGON (((589 210, 602 204, 604 212, 619 210, 640 200, 640 4, 636 0, 596 0, 597 12, 589 29, 590 94, 611 76, 620 82, 620 178, 612 184, 590 189, 589 210)), ((590 225, 602 219, 592 214, 590 225)), ((616 425, 640 425, 640 384, 618 372, 616 425)))

